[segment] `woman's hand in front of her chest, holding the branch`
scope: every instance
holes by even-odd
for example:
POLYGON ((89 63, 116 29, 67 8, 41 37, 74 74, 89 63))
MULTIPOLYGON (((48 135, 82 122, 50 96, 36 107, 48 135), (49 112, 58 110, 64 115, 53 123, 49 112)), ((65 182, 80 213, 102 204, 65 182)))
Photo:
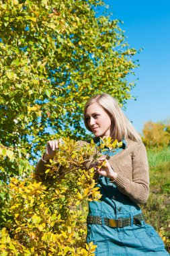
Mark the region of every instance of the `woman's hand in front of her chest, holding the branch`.
POLYGON ((110 166, 110 163, 106 158, 99 158, 94 164, 94 169, 100 175, 104 177, 108 177, 112 180, 116 179, 118 175, 116 172, 114 172, 114 170, 112 169, 112 167, 110 166), (105 164, 102 166, 103 162, 105 162, 105 164))

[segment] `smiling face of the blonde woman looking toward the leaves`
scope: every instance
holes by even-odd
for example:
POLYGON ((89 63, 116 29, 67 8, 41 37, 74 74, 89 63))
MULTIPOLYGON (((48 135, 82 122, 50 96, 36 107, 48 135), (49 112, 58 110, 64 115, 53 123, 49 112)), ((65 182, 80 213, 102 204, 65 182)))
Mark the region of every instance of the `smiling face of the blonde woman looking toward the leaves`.
POLYGON ((112 135, 110 116, 97 102, 87 107, 85 118, 95 137, 103 138, 112 135))

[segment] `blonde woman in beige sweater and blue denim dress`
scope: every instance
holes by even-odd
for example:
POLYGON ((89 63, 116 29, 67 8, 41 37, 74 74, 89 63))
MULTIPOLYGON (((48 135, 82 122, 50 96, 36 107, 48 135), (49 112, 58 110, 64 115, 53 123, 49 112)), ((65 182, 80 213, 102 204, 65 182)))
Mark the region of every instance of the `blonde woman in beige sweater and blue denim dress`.
MULTIPOLYGON (((102 197, 100 201, 89 202, 87 243, 93 241, 97 245, 97 256, 169 255, 155 229, 144 222, 138 206, 148 199, 149 184, 146 150, 140 136, 108 94, 88 100, 84 121, 95 135, 97 147, 105 137, 122 141, 122 148, 116 151, 101 150, 103 156, 93 164, 99 174, 97 186, 102 197), (110 156, 109 160, 105 154, 110 156), (103 160, 106 164, 99 168, 103 160)), ((36 173, 44 170, 44 162, 54 156, 56 148, 58 141, 47 143, 44 160, 38 162, 36 173)))

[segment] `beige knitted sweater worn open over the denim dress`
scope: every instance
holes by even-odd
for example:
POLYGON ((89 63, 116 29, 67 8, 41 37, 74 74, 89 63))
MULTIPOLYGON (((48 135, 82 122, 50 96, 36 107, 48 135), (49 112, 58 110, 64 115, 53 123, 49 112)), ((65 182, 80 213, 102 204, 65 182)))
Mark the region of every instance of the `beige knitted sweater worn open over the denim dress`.
MULTIPOLYGON (((127 147, 110 157, 110 165, 118 174, 114 184, 119 191, 135 203, 145 203, 148 199, 149 175, 146 149, 142 142, 127 139, 127 147)), ((80 141, 80 144, 85 141, 80 141)), ((40 160, 36 165, 36 174, 43 174, 46 161, 40 160)))

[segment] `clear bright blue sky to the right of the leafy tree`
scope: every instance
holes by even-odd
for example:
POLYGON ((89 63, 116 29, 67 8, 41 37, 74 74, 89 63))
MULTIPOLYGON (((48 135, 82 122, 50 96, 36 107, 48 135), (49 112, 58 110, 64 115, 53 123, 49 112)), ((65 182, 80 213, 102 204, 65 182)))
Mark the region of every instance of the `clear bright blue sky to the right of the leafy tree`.
POLYGON ((140 67, 136 88, 125 114, 138 132, 147 121, 170 119, 170 0, 105 0, 113 19, 124 22, 127 42, 135 49, 140 67))

